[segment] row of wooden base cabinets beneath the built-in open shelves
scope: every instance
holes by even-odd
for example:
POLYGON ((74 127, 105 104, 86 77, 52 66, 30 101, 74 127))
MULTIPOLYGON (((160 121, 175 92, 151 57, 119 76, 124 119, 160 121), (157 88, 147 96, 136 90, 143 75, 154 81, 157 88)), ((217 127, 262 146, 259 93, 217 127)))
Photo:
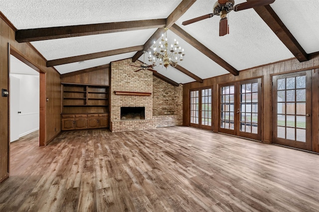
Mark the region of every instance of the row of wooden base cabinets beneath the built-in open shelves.
POLYGON ((109 127, 109 114, 63 114, 62 130, 109 127))

